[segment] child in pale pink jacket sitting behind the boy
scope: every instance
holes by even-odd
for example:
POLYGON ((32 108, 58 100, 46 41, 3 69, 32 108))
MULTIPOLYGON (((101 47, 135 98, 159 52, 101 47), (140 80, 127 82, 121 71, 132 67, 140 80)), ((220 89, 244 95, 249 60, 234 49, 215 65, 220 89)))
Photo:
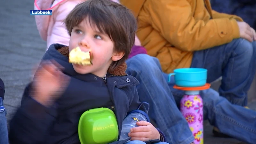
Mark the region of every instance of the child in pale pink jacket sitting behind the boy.
MULTIPOLYGON (((47 49, 51 44, 69 44, 68 31, 63 23, 64 19, 74 7, 86 0, 35 0, 35 10, 52 10, 52 15, 36 15, 36 27, 41 38, 47 42, 47 49)), ((119 3, 118 0, 112 0, 119 3)), ((140 46, 140 40, 135 35, 135 45, 140 46)), ((146 50, 143 49, 146 53, 146 50)))

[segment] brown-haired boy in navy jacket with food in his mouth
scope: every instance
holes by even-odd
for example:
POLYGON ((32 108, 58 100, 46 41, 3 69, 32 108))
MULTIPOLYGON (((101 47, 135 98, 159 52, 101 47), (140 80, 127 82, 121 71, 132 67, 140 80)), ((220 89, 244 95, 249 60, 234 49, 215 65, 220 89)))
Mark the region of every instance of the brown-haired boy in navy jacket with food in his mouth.
MULTIPOLYGON (((137 28, 132 13, 110 0, 88 0, 68 14, 65 25, 69 46, 52 44, 45 53, 10 122, 13 144, 80 143, 80 116, 89 109, 102 107, 115 113, 119 139, 125 116, 141 104, 136 90, 139 82, 125 73, 125 60, 137 28), (77 46, 92 52, 92 66, 68 62, 69 52, 77 46)), ((140 121, 137 125, 129 133, 131 141, 112 144, 165 140, 152 124, 140 121)))

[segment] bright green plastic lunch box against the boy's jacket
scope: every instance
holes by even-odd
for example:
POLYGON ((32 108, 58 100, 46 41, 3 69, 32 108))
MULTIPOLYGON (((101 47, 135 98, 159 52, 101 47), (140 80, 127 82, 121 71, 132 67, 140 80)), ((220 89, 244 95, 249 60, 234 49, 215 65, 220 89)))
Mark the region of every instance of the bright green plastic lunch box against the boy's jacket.
POLYGON ((107 144, 118 139, 114 112, 109 108, 85 111, 79 119, 78 136, 81 144, 107 144))

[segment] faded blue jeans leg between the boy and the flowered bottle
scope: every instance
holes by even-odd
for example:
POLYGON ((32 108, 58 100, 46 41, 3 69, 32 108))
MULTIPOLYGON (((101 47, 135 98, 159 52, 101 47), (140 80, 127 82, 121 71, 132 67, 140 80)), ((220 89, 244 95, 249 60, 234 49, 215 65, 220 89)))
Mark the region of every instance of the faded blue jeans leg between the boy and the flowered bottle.
POLYGON ((127 74, 139 80, 140 101, 150 104, 148 115, 172 144, 189 144, 194 136, 176 106, 172 92, 164 79, 158 59, 138 54, 126 61, 127 74))

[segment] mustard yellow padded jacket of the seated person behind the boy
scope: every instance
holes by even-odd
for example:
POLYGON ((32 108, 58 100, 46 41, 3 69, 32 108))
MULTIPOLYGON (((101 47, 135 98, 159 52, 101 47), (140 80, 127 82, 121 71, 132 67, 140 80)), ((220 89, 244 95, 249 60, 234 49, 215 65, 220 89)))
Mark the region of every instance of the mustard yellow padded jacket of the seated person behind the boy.
MULTIPOLYGON (((209 0, 120 0, 138 19, 141 44, 166 73, 189 68, 193 52, 240 37, 235 15, 213 11, 209 0)), ((216 57, 218 59, 218 57, 216 57)))

